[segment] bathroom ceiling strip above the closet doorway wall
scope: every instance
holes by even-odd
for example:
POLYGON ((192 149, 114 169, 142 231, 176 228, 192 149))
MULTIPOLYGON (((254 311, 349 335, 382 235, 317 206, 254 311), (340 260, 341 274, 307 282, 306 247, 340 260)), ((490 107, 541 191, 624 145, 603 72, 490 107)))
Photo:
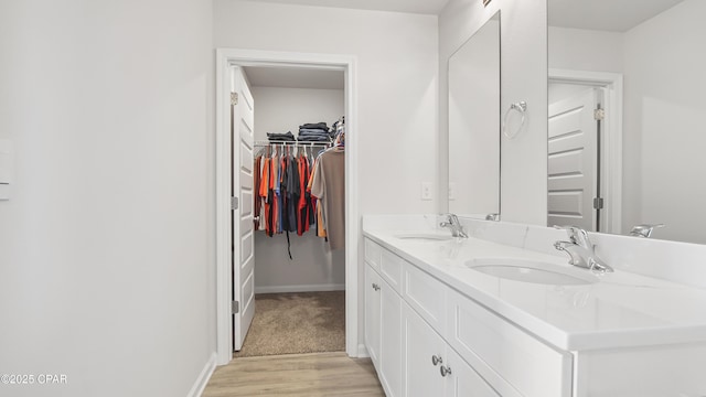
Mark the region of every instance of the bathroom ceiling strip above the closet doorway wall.
MULTIPOLYGON (((449 0, 249 0, 282 4, 332 7, 357 10, 409 12, 438 15, 449 0)), ((480 0, 478 0, 480 1, 480 0)))

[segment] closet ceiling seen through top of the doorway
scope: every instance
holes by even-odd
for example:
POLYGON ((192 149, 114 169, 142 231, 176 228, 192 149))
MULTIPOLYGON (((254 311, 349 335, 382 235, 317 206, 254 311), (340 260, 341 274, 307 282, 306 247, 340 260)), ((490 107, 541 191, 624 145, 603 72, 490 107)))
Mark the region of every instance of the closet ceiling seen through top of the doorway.
POLYGON ((246 66, 244 69, 253 87, 343 89, 344 85, 343 71, 274 66, 246 66))

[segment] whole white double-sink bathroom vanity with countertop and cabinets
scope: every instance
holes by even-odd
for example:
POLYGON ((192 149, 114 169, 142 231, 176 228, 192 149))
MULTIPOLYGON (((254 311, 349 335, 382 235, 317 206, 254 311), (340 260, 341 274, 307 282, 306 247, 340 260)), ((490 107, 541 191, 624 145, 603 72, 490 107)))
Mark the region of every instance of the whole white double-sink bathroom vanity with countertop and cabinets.
POLYGON ((387 396, 706 396, 704 289, 567 265, 543 247, 559 230, 472 221, 453 238, 427 221, 364 222, 387 396))

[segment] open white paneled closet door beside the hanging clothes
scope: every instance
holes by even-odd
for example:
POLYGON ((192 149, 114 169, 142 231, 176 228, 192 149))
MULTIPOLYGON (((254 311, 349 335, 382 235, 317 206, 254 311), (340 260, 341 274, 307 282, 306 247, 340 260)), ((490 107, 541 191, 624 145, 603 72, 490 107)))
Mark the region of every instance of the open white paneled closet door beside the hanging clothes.
POLYGON ((254 101, 240 67, 231 94, 231 225, 233 236, 233 350, 239 351, 255 315, 253 230, 254 101))

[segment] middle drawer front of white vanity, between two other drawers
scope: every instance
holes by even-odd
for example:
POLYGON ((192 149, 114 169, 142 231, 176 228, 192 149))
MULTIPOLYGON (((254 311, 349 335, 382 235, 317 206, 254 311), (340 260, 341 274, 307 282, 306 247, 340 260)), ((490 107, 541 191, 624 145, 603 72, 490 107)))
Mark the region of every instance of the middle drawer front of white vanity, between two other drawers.
POLYGON ((404 267, 404 275, 403 297, 429 325, 443 335, 449 287, 411 264, 404 267))

